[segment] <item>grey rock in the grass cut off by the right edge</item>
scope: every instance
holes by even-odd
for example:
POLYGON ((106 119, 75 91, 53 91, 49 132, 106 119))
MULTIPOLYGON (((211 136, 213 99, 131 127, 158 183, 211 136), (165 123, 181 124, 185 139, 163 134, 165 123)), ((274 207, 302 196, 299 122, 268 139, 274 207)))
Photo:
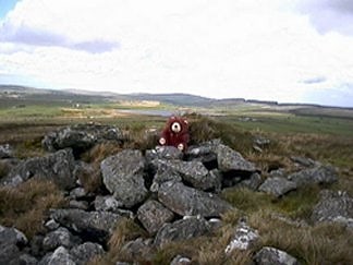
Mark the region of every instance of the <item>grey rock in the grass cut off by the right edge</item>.
POLYGON ((345 192, 321 191, 321 198, 314 207, 314 222, 339 222, 353 228, 353 198, 345 192))

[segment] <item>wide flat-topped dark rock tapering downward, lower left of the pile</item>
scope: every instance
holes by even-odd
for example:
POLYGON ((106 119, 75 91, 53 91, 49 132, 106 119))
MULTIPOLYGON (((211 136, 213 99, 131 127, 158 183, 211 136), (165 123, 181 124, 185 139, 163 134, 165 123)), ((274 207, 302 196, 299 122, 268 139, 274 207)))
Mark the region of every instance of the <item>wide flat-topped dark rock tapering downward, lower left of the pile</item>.
POLYGON ((96 240, 105 240, 121 219, 120 215, 113 213, 82 209, 52 209, 50 217, 61 226, 78 233, 89 234, 96 240))

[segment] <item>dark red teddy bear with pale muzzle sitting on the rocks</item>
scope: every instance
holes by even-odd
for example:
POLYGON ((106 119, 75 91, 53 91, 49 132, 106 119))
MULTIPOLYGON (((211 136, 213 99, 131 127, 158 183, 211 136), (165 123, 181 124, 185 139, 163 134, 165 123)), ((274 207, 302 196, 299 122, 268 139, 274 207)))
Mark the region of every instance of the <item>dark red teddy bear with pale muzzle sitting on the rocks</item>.
POLYGON ((159 144, 174 146, 180 150, 186 150, 188 143, 188 125, 182 117, 170 117, 166 128, 161 132, 159 144))

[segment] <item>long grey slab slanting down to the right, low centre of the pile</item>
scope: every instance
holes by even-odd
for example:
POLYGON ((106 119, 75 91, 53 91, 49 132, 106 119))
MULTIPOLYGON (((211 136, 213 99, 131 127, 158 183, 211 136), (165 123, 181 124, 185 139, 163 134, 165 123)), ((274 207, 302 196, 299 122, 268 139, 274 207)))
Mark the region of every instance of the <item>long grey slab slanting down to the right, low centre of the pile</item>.
POLYGON ((218 217, 232 208, 216 194, 173 181, 161 184, 158 191, 158 201, 181 216, 218 217))

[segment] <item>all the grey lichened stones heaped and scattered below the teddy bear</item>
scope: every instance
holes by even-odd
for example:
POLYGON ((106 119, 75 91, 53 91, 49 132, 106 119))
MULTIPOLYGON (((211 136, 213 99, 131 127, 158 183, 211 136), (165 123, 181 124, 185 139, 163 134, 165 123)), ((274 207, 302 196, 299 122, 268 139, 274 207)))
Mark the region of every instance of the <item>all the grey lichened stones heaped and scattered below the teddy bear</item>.
MULTIPOLYGON (((214 140, 191 146, 186 153, 170 146, 145 154, 138 149, 119 152, 100 164, 100 193, 88 193, 77 181, 77 172, 83 167, 93 169, 74 154, 104 141, 121 143, 124 137, 111 127, 65 128, 45 136, 44 147, 52 153, 11 166, 0 180, 1 185, 16 186, 31 178, 49 179, 65 192, 70 204, 68 208, 51 209, 50 218, 44 220, 47 232, 31 241, 15 228, 0 226, 0 264, 86 264, 105 253, 115 225, 123 218, 139 224, 148 237, 130 241, 122 250, 131 256, 150 255, 168 242, 208 234, 219 227, 220 216, 233 208, 219 196, 224 189, 247 188, 283 196, 307 183, 332 183, 338 179, 332 167, 314 164, 288 176, 273 172, 264 181, 256 165, 214 140)), ((11 159, 10 149, 0 148, 1 154, 7 154, 2 160, 11 159)), ((352 198, 342 195, 329 200, 318 204, 313 220, 352 221, 352 198), (344 202, 342 207, 348 208, 338 212, 342 218, 325 212, 334 207, 334 200, 344 202)), ((246 224, 240 224, 235 230, 226 254, 236 248, 247 249, 258 238, 257 231, 246 224)), ((258 264, 269 264, 264 261, 271 263, 273 258, 295 264, 295 258, 287 255, 281 250, 264 248, 254 258, 258 264)), ((188 260, 176 256, 175 264, 178 258, 188 260)))

